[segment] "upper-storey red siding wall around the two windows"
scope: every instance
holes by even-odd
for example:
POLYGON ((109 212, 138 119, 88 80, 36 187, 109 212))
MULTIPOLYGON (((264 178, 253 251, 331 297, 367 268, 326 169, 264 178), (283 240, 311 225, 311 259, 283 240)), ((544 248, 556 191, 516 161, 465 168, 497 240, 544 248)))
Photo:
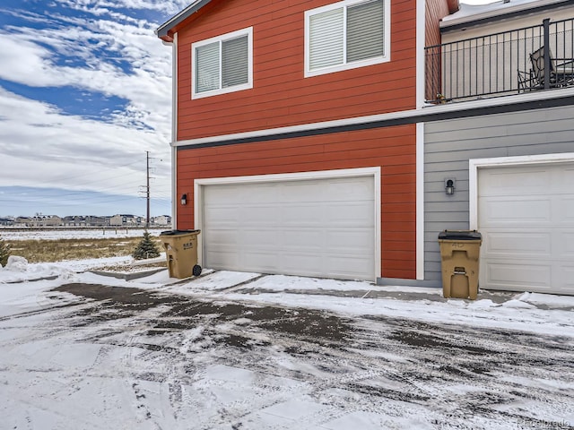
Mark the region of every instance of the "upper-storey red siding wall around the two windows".
POLYGON ((334 0, 213 0, 178 30, 178 141, 415 107, 416 2, 391 4, 391 61, 304 78, 304 12, 334 0), (254 88, 191 99, 191 44, 254 29, 254 88))

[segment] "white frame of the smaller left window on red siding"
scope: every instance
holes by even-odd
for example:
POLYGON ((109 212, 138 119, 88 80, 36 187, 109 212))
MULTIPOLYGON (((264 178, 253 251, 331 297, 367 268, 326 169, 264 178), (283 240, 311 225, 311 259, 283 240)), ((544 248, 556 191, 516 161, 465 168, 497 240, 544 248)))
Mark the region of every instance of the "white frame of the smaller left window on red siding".
POLYGON ((191 99, 203 99, 205 97, 217 96, 219 94, 227 94, 229 92, 250 90, 253 88, 253 27, 248 27, 246 29, 231 31, 230 33, 222 34, 221 36, 216 36, 211 39, 204 39, 191 44, 191 99), (222 88, 222 83, 220 82, 220 88, 217 90, 208 90, 197 92, 196 91, 196 48, 203 47, 204 45, 209 45, 213 42, 219 42, 220 44, 220 79, 222 77, 222 42, 230 39, 237 39, 241 36, 248 37, 248 82, 241 83, 239 85, 233 85, 231 87, 222 88))

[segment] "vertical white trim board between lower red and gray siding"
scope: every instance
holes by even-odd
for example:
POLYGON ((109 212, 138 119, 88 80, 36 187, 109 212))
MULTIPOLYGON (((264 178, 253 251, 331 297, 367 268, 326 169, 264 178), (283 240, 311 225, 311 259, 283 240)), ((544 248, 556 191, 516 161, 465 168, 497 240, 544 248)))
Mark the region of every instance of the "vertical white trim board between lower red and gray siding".
POLYGON ((424 123, 416 125, 416 279, 424 280, 424 123))

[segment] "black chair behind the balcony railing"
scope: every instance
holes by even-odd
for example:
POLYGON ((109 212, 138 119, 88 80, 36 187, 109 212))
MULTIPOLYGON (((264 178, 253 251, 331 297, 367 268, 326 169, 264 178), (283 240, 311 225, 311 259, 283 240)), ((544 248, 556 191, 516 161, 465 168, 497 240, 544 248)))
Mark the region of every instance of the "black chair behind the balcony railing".
MULTIPOLYGON (((530 54, 530 62, 532 63, 532 78, 530 79, 530 90, 542 90, 545 87, 544 77, 546 70, 544 66, 544 47, 540 47, 530 54)), ((549 87, 566 87, 574 85, 574 59, 572 58, 553 58, 550 48, 547 49, 548 57, 550 58, 549 70, 549 87), (561 61, 561 64, 557 64, 561 61)), ((520 80, 520 73, 518 73, 518 80, 520 80)))

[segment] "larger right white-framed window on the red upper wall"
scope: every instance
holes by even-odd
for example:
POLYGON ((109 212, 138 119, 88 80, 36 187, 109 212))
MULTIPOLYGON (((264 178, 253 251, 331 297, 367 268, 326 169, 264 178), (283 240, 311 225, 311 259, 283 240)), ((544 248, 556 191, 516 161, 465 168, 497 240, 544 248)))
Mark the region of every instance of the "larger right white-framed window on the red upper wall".
POLYGON ((305 76, 390 61, 390 0, 344 0, 305 13, 305 76))

